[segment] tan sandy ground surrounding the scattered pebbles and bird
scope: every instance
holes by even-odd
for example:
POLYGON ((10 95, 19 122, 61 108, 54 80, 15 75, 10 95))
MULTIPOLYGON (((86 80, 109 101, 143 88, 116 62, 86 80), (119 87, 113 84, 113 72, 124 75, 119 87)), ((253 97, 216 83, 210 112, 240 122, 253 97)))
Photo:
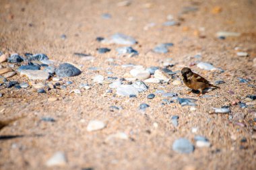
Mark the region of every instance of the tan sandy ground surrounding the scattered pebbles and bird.
MULTIPOLYGON (((255 105, 242 109, 231 105, 232 101, 243 101, 247 95, 255 94, 256 69, 253 58, 256 56, 256 1, 131 1, 131 5, 117 6, 119 1, 0 1, 0 50, 2 52, 44 53, 51 60, 72 62, 82 66, 82 74, 63 79, 72 81, 67 89, 54 89, 38 94, 33 87, 15 89, 0 87, 0 119, 8 120, 17 116, 25 118, 3 128, 0 136, 24 135, 8 140, 0 140, 0 169, 255 169, 255 105), (180 15, 184 7, 198 7, 197 11, 180 15), (221 11, 213 13, 214 7, 221 11), (109 13, 110 19, 102 18, 109 13), (167 15, 173 15, 180 26, 163 26, 167 15), (143 29, 150 23, 156 25, 143 29), (204 32, 201 30, 204 29, 204 32), (241 36, 220 40, 216 32, 240 32, 241 36), (104 45, 97 42, 97 36, 108 37, 116 32, 133 36, 138 44, 133 48, 139 56, 118 56, 115 48, 119 45, 104 45), (200 38, 203 34, 205 38, 200 38), (63 40, 61 35, 67 38, 63 40), (167 54, 151 51, 163 42, 174 46, 167 54), (96 48, 112 50, 98 54, 96 48), (247 57, 236 56, 234 48, 249 53, 247 57), (94 62, 74 56, 83 52, 95 56, 94 62), (211 62, 224 73, 203 71, 196 66, 191 69, 210 81, 223 79, 221 89, 197 97, 187 95, 185 85, 150 84, 149 90, 136 98, 120 97, 115 90, 104 95, 107 84, 96 85, 94 75, 123 77, 131 68, 121 65, 133 63, 144 67, 162 67, 160 60, 172 58, 175 64, 172 71, 179 71, 201 54, 201 61, 211 62), (106 62, 107 58, 117 59, 117 66, 106 62), (90 71, 89 67, 100 67, 100 71, 90 71), (251 79, 239 83, 238 77, 251 79), (82 90, 82 95, 69 94, 80 83, 92 85, 82 90), (157 89, 175 92, 179 97, 198 99, 195 111, 178 103, 161 105, 161 95, 147 99, 147 95, 157 89), (57 101, 48 101, 57 97, 57 101), (141 112, 141 103, 150 108, 141 112), (122 110, 111 112, 115 105, 122 110), (232 116, 245 114, 242 119, 229 119, 228 114, 209 114, 212 108, 231 105, 232 116), (179 116, 179 126, 170 122, 172 115, 179 116), (56 122, 42 122, 40 118, 55 118, 56 122), (88 132, 90 120, 106 122, 106 128, 88 132), (197 132, 192 132, 197 128, 197 132), (128 140, 115 139, 106 142, 110 134, 125 132, 128 140), (187 138, 193 144, 196 135, 205 136, 211 146, 198 148, 190 154, 172 151, 172 143, 178 138, 187 138), (241 142, 246 138, 247 142, 241 142), (57 151, 67 157, 62 167, 47 167, 46 161, 57 151)), ((218 11, 218 10, 217 10, 218 11)), ((2 64, 4 67, 7 63, 2 64)), ((181 77, 181 75, 179 75, 181 77)), ((29 82, 26 77, 15 75, 11 81, 29 82)), ((46 81, 46 83, 51 80, 46 81)))

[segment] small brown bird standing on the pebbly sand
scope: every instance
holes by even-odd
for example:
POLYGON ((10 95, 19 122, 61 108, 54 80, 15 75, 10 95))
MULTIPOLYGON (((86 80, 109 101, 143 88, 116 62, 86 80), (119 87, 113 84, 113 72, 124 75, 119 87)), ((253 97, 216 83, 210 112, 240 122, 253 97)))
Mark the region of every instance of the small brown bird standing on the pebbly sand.
MULTIPOLYGON (((185 85, 187 85, 187 87, 193 90, 199 90, 199 94, 197 96, 203 93, 203 90, 208 87, 220 89, 220 87, 210 84, 210 81, 207 81, 205 78, 201 77, 200 75, 197 75, 197 73, 193 73, 191 69, 187 67, 184 67, 181 70, 181 74, 183 76, 183 81, 185 85)), ((189 93, 191 93, 191 91, 189 93)))

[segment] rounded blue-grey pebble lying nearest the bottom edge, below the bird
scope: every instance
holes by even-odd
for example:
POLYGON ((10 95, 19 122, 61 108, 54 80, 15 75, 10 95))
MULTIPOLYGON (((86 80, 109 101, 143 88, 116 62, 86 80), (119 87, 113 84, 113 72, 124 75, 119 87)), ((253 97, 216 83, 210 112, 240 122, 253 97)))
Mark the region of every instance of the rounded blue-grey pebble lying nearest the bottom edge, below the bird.
POLYGON ((179 138, 172 144, 172 150, 177 153, 193 153, 194 146, 186 138, 179 138))

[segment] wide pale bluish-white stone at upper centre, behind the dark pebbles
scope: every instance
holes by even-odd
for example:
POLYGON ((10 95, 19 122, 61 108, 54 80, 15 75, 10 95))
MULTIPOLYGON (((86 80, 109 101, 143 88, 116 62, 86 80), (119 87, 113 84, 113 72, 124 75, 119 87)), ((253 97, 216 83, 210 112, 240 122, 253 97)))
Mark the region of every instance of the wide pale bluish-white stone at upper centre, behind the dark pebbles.
POLYGON ((137 43, 137 41, 131 36, 126 36, 125 34, 120 34, 120 33, 114 34, 110 38, 106 38, 101 42, 104 44, 120 44, 120 45, 127 45, 127 46, 131 46, 137 43))

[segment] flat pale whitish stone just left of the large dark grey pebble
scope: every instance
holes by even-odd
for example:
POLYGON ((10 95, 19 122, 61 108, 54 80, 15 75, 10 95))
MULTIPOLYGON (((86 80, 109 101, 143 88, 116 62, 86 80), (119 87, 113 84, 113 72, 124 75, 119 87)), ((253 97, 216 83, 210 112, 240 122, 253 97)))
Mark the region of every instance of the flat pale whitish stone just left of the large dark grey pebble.
POLYGON ((32 80, 48 80, 50 75, 45 71, 32 71, 32 70, 22 70, 20 75, 26 75, 28 79, 32 80))

